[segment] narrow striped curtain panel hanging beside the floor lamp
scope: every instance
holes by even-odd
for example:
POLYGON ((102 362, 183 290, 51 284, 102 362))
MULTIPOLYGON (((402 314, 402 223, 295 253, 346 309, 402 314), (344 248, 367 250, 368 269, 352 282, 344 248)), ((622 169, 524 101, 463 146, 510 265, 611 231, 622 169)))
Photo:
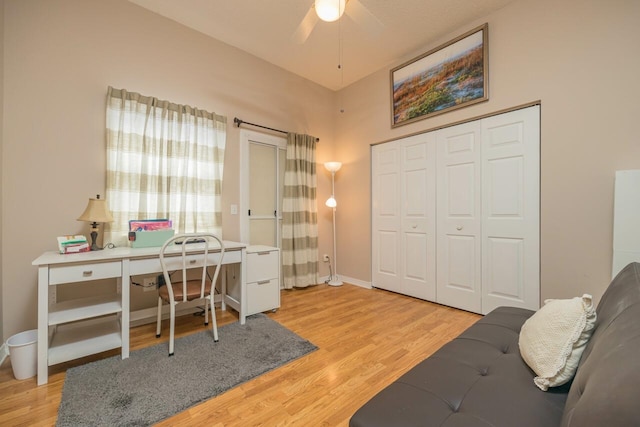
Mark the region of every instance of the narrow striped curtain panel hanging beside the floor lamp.
POLYGON ((316 139, 287 134, 282 200, 282 271, 285 289, 318 283, 316 139))

